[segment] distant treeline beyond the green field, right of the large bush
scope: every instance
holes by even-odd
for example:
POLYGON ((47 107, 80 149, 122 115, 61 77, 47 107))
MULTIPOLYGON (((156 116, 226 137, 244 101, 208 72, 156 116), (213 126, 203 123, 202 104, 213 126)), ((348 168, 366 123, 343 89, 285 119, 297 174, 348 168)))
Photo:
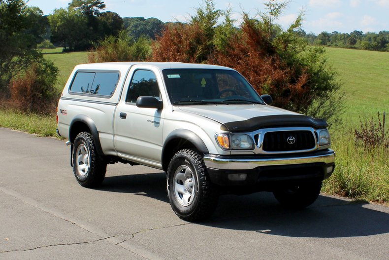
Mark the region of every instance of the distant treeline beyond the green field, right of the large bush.
POLYGON ((360 50, 389 51, 389 31, 379 33, 363 33, 354 31, 350 34, 339 32, 322 32, 318 36, 307 34, 303 30, 298 32, 311 45, 323 45, 338 48, 350 48, 360 50))

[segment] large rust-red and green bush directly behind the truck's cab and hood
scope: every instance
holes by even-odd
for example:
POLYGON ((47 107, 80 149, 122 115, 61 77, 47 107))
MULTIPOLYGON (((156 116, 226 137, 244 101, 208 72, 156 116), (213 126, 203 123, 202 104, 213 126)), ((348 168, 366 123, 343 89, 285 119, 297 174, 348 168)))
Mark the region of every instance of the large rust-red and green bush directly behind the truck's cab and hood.
POLYGON ((165 28, 152 44, 152 60, 233 68, 259 94, 272 95, 274 106, 324 118, 329 125, 338 123, 341 84, 327 65, 324 48, 308 46, 299 37, 302 14, 287 31, 273 24, 286 2, 270 1, 266 6, 268 13, 260 13, 260 20, 244 13, 237 30, 230 10, 216 10, 213 0, 206 0, 189 24, 165 28), (220 16, 225 22, 216 25, 220 16))

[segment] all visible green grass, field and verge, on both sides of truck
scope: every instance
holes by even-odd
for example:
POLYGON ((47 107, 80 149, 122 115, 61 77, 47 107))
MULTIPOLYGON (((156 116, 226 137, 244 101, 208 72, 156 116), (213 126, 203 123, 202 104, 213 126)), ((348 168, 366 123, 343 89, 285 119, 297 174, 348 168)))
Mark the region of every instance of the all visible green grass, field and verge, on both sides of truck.
MULTIPOLYGON (((343 82, 347 108, 342 127, 332 132, 336 167, 333 175, 324 181, 322 190, 328 194, 389 205, 388 149, 376 147, 365 150, 354 139, 354 130, 360 128, 359 120, 373 118, 377 121, 377 111, 389 114, 389 53, 337 48, 326 50, 329 63, 343 82)), ((88 53, 59 51, 58 48, 44 50, 44 56, 58 66, 58 87, 62 90, 74 66, 85 63, 88 53)), ((40 136, 56 136, 55 116, 26 115, 0 109, 0 127, 40 136)))

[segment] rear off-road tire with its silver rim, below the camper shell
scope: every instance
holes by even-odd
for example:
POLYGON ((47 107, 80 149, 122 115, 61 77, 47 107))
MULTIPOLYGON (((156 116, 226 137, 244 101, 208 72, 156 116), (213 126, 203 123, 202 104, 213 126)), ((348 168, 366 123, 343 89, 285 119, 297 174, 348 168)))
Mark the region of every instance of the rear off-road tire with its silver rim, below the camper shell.
POLYGON ((97 154, 91 133, 81 132, 77 135, 72 150, 72 163, 74 176, 81 186, 93 188, 101 185, 107 164, 97 154))

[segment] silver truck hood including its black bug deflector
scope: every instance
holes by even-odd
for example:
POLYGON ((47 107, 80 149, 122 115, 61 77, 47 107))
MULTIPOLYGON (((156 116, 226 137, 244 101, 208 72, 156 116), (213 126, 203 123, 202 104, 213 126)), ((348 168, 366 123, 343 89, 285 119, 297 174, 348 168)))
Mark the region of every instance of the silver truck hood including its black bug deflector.
POLYGON ((323 119, 266 105, 182 106, 179 109, 217 121, 222 124, 221 130, 231 132, 289 126, 323 129, 328 126, 323 119))

